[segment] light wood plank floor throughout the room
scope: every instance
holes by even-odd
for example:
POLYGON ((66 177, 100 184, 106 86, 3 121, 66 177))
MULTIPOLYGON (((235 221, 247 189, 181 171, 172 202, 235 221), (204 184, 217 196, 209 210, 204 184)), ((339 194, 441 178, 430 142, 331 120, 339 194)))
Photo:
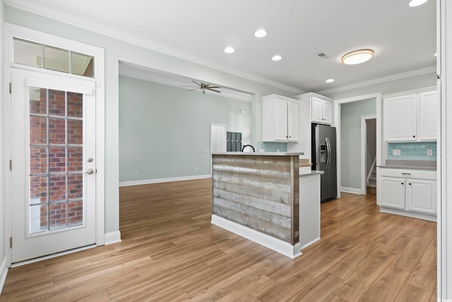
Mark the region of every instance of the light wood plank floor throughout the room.
POLYGON ((10 269, 0 301, 436 301, 436 223, 321 206, 296 260, 210 224, 211 181, 121 187, 122 242, 10 269))

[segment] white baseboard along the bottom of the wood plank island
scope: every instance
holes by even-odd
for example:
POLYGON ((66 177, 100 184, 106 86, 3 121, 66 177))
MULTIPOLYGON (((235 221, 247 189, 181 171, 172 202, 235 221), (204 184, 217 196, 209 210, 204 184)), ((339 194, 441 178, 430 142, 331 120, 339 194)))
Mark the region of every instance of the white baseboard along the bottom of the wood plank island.
POLYGON ((296 257, 302 255, 301 245, 299 243, 291 245, 290 243, 287 243, 283 240, 273 238, 258 231, 254 231, 251 228, 247 228, 246 226, 242 226, 239 223, 235 223, 217 215, 212 215, 211 223, 215 224, 215 226, 220 226, 220 228, 224 228, 227 231, 254 241, 255 243, 263 245, 266 248, 270 248, 271 250, 279 252, 280 254, 283 254, 292 259, 295 259, 296 257))

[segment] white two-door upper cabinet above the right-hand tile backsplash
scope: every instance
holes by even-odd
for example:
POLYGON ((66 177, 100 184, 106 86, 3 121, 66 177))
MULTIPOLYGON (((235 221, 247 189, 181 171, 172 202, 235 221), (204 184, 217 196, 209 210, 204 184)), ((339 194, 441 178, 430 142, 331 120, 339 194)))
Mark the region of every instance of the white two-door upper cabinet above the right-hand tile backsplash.
POLYGON ((384 141, 436 141, 436 91, 383 98, 384 141))

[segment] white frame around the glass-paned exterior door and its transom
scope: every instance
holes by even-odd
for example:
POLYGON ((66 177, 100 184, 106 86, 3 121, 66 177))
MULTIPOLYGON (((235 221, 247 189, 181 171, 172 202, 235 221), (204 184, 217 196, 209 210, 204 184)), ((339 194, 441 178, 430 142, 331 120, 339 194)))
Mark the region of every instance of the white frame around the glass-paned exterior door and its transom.
MULTIPOLYGON (((61 47, 66 50, 90 54, 95 57, 95 78, 90 79, 84 76, 66 74, 66 76, 77 79, 95 81, 96 84, 96 245, 105 244, 105 50, 100 47, 86 45, 62 37, 41 33, 37 30, 23 28, 11 23, 4 24, 4 87, 9 86, 11 81, 11 67, 29 69, 47 74, 61 75, 61 72, 40 69, 36 67, 23 66, 13 63, 13 37, 21 37, 25 40, 41 42, 47 45, 61 47)), ((11 100, 8 89, 4 91, 4 100, 11 100)), ((11 105, 9 101, 4 102, 4 162, 8 163, 11 158, 11 105)), ((4 169, 4 247, 6 254, 6 266, 11 267, 11 173, 9 169, 4 169)))

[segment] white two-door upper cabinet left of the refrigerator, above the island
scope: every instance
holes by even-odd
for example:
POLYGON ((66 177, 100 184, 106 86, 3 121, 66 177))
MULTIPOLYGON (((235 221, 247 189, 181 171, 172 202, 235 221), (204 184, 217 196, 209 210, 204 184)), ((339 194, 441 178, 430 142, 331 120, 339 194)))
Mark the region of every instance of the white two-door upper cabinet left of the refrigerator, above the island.
POLYGON ((298 141, 297 100, 274 94, 261 100, 263 141, 298 141))

